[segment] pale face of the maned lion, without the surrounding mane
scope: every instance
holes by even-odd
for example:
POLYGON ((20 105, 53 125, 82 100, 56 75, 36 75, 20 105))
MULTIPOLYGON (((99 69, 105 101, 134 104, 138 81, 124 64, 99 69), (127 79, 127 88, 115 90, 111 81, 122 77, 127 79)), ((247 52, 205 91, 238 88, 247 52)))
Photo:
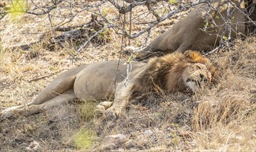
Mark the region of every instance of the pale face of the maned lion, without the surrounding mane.
POLYGON ((182 79, 191 91, 196 92, 212 81, 212 75, 204 64, 196 63, 187 66, 182 79))

